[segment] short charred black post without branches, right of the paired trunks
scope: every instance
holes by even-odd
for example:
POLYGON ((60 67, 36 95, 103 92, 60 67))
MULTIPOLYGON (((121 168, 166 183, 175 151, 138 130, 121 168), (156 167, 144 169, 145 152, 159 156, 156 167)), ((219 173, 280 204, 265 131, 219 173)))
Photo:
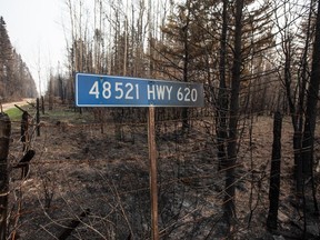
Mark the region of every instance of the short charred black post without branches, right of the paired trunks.
POLYGON ((269 187, 269 214, 267 219, 268 230, 277 230, 279 194, 280 194, 280 167, 281 167, 281 128, 282 117, 280 112, 274 113, 273 120, 273 144, 270 170, 269 187))

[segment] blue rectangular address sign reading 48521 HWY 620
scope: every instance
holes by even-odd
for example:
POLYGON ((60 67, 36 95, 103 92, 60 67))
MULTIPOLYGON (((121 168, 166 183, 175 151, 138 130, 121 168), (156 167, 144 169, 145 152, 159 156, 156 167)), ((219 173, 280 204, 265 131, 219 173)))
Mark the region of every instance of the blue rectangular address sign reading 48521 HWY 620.
POLYGON ((78 107, 203 107, 203 84, 76 74, 78 107))

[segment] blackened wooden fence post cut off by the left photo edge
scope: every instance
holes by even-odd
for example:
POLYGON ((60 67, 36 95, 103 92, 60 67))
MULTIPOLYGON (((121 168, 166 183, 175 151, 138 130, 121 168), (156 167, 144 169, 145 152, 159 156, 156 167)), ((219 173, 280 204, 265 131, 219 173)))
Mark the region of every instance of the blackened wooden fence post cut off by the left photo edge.
POLYGON ((7 239, 8 214, 8 153, 11 133, 11 122, 7 113, 0 113, 0 240, 7 239))

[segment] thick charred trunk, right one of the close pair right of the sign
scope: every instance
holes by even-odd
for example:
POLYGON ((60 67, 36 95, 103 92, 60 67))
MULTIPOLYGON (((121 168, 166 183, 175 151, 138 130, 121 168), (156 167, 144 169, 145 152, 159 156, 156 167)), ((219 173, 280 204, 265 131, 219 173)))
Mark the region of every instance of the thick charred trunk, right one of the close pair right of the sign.
POLYGON ((242 10, 243 1, 236 1, 236 27, 234 27, 234 50, 231 79, 230 117, 229 117, 229 139, 228 158, 226 161, 226 196, 223 201, 224 219, 228 231, 232 231, 236 224, 236 164, 238 143, 238 120, 239 120, 239 91, 241 74, 241 37, 242 37, 242 10))

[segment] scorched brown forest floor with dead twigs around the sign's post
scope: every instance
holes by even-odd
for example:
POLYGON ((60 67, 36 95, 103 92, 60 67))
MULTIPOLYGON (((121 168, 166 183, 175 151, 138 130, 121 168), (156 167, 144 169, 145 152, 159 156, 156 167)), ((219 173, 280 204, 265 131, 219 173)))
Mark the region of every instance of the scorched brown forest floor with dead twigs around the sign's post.
MULTIPOLYGON (((30 119, 30 148, 36 157, 27 178, 21 179, 20 169, 10 172, 10 239, 150 239, 146 116, 119 121, 114 112, 84 109, 79 113, 54 106, 41 114, 40 136, 30 119)), ((292 181, 289 117, 282 126, 278 231, 266 229, 272 123, 270 116, 241 121, 238 222, 230 238, 300 239, 303 233, 303 212, 297 208, 292 181)), ((221 221, 224 172, 218 170, 213 119, 192 119, 189 132, 181 132, 180 121, 168 119, 157 121, 156 129, 161 239, 226 239, 221 221)), ((22 156, 20 122, 12 122, 10 166, 22 156)), ((316 183, 319 200, 319 173, 316 183)), ((319 219, 312 216, 310 199, 307 196, 311 220, 306 236, 319 239, 319 219)))

